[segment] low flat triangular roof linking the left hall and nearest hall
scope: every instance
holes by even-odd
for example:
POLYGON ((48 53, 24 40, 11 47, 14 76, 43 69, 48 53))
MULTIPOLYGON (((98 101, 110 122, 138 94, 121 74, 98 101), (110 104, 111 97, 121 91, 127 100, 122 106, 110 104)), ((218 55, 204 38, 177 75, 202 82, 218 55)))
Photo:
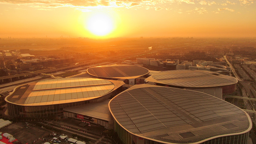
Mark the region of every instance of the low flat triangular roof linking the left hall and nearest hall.
POLYGON ((85 106, 73 107, 73 108, 63 108, 63 110, 84 115, 90 116, 106 121, 113 121, 112 115, 108 109, 108 103, 110 99, 106 99, 102 102, 89 103, 85 106))

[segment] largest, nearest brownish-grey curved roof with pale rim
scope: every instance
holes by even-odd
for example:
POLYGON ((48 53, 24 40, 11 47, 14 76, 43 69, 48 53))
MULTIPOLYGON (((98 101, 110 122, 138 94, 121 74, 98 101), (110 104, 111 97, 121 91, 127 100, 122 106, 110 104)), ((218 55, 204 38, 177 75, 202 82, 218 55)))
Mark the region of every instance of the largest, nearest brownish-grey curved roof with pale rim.
POLYGON ((163 143, 202 142, 252 128, 249 115, 224 100, 156 85, 134 85, 114 97, 109 109, 128 132, 163 143))

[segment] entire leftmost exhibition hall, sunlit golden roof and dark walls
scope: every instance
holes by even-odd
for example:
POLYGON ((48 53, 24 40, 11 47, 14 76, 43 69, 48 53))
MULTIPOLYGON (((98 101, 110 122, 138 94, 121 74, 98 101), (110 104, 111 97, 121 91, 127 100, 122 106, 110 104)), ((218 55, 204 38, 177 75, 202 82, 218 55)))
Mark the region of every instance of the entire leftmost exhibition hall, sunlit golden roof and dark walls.
POLYGON ((8 114, 25 120, 63 116, 63 108, 84 106, 114 97, 122 81, 95 78, 63 78, 23 84, 5 98, 8 114))

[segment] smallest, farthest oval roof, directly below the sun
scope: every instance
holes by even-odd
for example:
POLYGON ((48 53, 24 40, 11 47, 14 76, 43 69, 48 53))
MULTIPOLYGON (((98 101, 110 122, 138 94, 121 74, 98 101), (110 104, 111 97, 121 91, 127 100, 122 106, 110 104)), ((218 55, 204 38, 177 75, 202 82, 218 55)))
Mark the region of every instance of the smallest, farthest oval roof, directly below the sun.
POLYGON ((149 70, 135 65, 111 65, 88 68, 87 72, 98 77, 130 79, 146 75, 149 70))

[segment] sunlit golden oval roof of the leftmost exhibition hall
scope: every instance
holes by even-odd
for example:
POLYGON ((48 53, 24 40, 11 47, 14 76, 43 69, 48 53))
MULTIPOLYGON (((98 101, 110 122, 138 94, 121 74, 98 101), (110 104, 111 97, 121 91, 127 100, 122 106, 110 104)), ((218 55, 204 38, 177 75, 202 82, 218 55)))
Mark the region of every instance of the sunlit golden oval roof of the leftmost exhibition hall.
POLYGON ((25 106, 71 103, 101 97, 123 84, 96 78, 50 79, 16 87, 6 100, 25 106))

